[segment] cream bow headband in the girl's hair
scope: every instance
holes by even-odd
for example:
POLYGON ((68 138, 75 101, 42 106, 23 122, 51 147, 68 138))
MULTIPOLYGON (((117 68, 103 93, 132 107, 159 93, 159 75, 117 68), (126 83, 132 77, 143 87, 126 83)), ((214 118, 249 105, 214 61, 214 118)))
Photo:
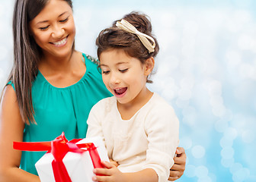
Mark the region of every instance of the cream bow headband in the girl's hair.
POLYGON ((117 21, 116 26, 119 27, 120 29, 126 30, 127 32, 136 34, 136 36, 139 37, 140 41, 146 47, 146 49, 149 50, 149 53, 155 52, 155 40, 151 36, 148 36, 145 33, 139 32, 138 30, 136 30, 136 27, 134 27, 128 21, 123 19, 121 21, 117 21), (149 39, 153 43, 151 43, 149 39))

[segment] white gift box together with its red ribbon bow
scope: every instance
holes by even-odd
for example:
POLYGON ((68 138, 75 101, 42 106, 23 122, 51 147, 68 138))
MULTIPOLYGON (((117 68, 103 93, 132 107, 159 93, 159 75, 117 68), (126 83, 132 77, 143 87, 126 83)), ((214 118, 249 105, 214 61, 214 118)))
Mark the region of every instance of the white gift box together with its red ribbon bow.
POLYGON ((103 168, 101 161, 109 161, 101 137, 68 141, 62 133, 50 143, 27 145, 14 143, 14 149, 48 151, 35 165, 42 182, 92 182, 93 169, 103 168))

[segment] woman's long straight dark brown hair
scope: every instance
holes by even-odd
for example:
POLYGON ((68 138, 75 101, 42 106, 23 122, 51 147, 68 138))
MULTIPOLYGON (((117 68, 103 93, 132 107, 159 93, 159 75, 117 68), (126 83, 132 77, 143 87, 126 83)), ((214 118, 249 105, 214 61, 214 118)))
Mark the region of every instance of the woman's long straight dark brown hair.
MULTIPOLYGON (((14 64, 8 82, 14 83, 21 118, 27 124, 34 121, 31 96, 32 84, 37 76, 37 63, 42 50, 29 33, 29 23, 43 10, 50 0, 16 0, 13 14, 14 64)), ((63 0, 72 8, 71 0, 63 0)), ((73 45, 74 49, 74 45, 73 45)))

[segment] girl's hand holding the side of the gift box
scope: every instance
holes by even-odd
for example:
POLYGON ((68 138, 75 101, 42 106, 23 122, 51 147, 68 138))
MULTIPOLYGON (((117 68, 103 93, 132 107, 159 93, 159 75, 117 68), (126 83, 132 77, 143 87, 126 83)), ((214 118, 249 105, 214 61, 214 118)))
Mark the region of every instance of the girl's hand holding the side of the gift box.
POLYGON ((125 181, 124 174, 119 171, 115 165, 111 164, 110 162, 101 162, 101 164, 104 165, 105 168, 94 168, 94 174, 96 174, 96 176, 92 177, 93 181, 125 181), (98 176, 98 174, 103 176, 98 176))

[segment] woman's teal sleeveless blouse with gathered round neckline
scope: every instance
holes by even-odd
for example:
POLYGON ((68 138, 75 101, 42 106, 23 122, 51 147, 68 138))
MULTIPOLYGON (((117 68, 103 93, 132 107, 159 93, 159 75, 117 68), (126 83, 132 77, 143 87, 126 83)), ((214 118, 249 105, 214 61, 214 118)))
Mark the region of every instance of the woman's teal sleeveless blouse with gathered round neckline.
MULTIPOLYGON (((83 56, 86 72, 72 86, 57 88, 38 71, 32 86, 34 118, 37 124, 25 124, 24 142, 51 141, 62 131, 67 140, 85 137, 91 107, 112 95, 104 86, 97 61, 88 55, 83 56)), ((37 174, 34 165, 44 153, 22 152, 21 168, 37 174)))

